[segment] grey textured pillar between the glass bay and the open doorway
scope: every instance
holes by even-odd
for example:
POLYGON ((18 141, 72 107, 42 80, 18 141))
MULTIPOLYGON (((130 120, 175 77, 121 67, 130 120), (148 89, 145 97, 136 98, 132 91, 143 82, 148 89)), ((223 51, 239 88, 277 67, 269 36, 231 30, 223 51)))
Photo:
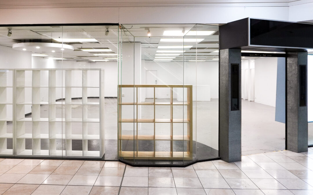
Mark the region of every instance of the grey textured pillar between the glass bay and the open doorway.
POLYGON ((219 51, 219 156, 241 161, 241 49, 219 51), (231 64, 239 64, 239 110, 231 111, 231 64))

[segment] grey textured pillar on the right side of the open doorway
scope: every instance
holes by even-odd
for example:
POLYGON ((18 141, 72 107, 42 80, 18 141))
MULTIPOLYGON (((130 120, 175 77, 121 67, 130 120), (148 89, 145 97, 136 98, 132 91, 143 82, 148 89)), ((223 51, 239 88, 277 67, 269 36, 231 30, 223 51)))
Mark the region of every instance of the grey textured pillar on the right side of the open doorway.
POLYGON ((308 151, 308 107, 307 87, 305 106, 300 106, 300 65, 306 65, 307 52, 287 53, 287 149, 293 152, 308 151))

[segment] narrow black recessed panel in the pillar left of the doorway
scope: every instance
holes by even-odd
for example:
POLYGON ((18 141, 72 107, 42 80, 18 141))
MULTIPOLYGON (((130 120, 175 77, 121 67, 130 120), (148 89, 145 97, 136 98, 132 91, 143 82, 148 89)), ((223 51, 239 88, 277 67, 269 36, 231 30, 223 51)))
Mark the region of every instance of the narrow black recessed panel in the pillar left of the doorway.
POLYGON ((239 64, 230 64, 231 111, 239 110, 239 64))

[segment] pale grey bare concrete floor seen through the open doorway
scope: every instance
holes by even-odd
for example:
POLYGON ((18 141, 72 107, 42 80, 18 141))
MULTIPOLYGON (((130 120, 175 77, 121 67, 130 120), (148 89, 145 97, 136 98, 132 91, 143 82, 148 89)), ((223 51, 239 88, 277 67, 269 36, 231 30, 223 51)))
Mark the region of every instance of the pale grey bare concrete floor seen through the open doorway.
POLYGON ((285 124, 275 121, 275 107, 242 100, 241 108, 242 155, 285 149, 285 124))

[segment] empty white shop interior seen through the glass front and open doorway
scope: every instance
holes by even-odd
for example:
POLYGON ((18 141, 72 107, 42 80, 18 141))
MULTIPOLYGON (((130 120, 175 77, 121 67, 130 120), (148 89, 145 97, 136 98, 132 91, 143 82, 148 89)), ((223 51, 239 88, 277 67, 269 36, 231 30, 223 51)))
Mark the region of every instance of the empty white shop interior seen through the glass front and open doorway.
MULTIPOLYGON (((242 57, 242 155, 285 149, 285 80, 285 58, 242 57)), ((0 82, 3 157, 219 157, 218 24, 3 26, 0 82)))

